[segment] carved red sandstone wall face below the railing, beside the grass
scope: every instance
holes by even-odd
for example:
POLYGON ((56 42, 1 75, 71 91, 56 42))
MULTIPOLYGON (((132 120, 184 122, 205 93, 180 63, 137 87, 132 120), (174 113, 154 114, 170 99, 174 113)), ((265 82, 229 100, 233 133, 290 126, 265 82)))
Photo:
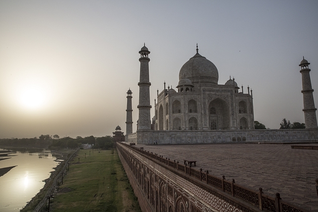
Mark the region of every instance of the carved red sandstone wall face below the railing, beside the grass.
MULTIPOLYGON (((213 195, 183 177, 160 166, 154 161, 137 152, 131 151, 128 147, 120 144, 117 148, 119 150, 118 152, 121 154, 122 163, 125 162, 128 164, 137 183, 139 180, 137 180, 138 172, 134 172, 136 166, 135 163, 142 164, 145 168, 145 179, 143 181, 152 182, 154 177, 151 177, 151 180, 150 176, 155 175, 156 183, 154 189, 156 190, 156 204, 154 204, 154 212, 168 212, 171 210, 172 212, 213 212, 215 210, 222 212, 242 212, 231 205, 231 201, 227 202, 213 195)), ((153 188, 151 190, 153 190, 153 188)), ((153 194, 148 194, 151 192, 150 189, 146 188, 142 190, 142 192, 144 192, 144 196, 148 198, 149 205, 152 205, 153 201, 151 200, 151 197, 153 194)))

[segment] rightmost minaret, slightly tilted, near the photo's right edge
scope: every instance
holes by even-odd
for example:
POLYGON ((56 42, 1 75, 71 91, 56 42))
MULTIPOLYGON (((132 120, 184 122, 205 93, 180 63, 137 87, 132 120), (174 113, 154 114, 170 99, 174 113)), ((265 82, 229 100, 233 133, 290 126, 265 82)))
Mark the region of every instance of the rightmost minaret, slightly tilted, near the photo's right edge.
POLYGON ((318 128, 317 127, 317 117, 316 117, 316 110, 315 103, 314 103, 314 96, 313 92, 314 89, 312 88, 312 82, 310 80, 310 74, 311 71, 308 67, 310 63, 305 60, 303 57, 302 62, 300 63, 300 73, 302 73, 302 83, 303 83, 303 99, 304 99, 304 113, 305 113, 305 125, 306 129, 311 128, 318 128))

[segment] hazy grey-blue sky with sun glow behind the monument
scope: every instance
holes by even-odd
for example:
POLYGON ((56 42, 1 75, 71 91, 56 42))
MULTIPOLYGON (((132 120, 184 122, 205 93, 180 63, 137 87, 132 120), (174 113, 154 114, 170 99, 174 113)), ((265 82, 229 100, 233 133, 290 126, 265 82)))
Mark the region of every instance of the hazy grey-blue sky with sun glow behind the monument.
POLYGON ((317 0, 1 0, 0 138, 126 134, 138 119, 140 55, 151 51, 154 100, 196 53, 253 90, 254 119, 304 122, 305 56, 318 107, 317 0))

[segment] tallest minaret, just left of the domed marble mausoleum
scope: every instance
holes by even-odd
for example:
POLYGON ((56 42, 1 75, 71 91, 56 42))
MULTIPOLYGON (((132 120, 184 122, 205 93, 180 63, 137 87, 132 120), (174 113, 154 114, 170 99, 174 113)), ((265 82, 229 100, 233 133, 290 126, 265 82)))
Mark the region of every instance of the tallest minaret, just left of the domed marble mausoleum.
POLYGON ((148 48, 143 46, 139 51, 140 54, 140 79, 139 79, 139 122, 138 122, 138 131, 139 130, 150 130, 151 129, 151 118, 150 118, 150 92, 149 87, 151 83, 149 82, 149 61, 150 58, 148 55, 150 51, 148 48))

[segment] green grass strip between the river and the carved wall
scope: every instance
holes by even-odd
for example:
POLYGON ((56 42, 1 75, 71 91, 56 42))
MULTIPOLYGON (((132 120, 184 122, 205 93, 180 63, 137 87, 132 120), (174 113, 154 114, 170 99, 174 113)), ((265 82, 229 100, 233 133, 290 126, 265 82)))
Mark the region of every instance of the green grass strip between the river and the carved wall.
POLYGON ((50 211, 141 212, 116 150, 80 150, 69 169, 50 211))

